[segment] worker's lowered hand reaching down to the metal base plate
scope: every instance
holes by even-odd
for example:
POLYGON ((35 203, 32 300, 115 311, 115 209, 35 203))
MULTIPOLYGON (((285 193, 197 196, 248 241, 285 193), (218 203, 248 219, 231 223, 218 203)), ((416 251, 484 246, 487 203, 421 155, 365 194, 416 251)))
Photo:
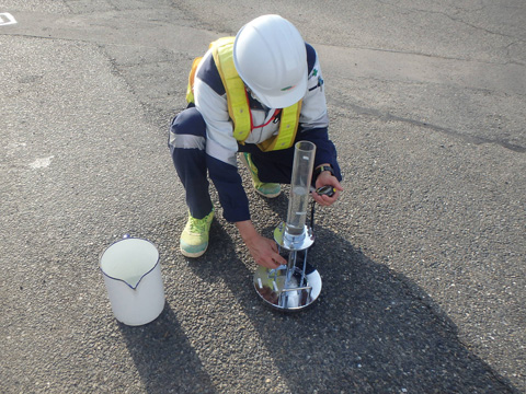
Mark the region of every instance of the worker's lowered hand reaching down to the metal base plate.
POLYGON ((255 263, 271 269, 287 264, 277 253, 276 242, 260 235, 250 220, 237 222, 236 225, 255 263))

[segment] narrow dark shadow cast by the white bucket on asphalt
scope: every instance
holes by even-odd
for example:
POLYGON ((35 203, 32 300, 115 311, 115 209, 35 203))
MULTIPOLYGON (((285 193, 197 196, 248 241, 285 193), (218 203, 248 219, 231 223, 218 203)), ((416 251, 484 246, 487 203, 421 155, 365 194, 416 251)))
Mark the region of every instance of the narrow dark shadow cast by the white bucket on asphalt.
POLYGON ((168 302, 153 322, 118 327, 148 393, 216 393, 168 302))

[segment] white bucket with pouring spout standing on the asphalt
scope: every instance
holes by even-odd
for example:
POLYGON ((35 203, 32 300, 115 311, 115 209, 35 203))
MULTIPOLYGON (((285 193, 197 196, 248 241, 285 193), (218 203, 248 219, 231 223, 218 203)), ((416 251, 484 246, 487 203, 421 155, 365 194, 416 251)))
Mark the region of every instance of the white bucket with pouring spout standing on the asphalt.
POLYGON ((149 241, 125 235, 100 260, 113 314, 137 326, 152 322, 164 309, 159 252, 149 241))

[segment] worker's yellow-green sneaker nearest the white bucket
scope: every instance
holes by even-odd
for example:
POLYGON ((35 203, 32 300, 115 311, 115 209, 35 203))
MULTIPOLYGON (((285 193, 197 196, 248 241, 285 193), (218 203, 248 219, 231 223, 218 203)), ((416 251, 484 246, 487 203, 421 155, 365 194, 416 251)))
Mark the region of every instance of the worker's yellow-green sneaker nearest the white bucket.
POLYGON ((188 213, 188 221, 181 234, 181 253, 186 257, 199 257, 208 247, 208 233, 210 232, 214 209, 203 219, 192 218, 188 213))

